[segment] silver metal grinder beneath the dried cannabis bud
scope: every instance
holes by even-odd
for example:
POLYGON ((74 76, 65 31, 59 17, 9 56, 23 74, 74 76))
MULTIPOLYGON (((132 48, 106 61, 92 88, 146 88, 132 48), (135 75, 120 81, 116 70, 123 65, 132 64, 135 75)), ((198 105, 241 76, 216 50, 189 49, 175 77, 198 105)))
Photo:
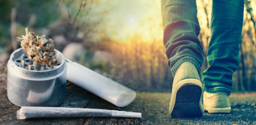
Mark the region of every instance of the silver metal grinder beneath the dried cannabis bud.
POLYGON ((55 107, 66 94, 67 64, 60 51, 55 50, 57 66, 32 62, 20 48, 12 52, 7 70, 7 97, 18 107, 55 107))

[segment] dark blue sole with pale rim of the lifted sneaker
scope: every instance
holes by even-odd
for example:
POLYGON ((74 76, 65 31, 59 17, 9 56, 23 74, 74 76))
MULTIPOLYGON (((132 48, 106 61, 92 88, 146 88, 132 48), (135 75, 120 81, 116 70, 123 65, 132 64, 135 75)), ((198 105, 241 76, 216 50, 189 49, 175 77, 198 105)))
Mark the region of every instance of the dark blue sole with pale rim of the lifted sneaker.
POLYGON ((169 112, 172 117, 198 117, 203 115, 202 83, 197 79, 184 79, 173 89, 169 112))

